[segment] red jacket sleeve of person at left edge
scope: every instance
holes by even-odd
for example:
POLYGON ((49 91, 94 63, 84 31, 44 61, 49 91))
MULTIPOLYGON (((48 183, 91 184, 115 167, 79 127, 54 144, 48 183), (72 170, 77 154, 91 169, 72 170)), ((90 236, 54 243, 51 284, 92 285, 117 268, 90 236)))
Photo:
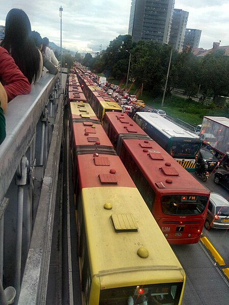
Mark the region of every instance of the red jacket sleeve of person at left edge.
POLYGON ((31 84, 3 47, 0 47, 0 81, 6 90, 8 102, 17 95, 31 92, 31 84))

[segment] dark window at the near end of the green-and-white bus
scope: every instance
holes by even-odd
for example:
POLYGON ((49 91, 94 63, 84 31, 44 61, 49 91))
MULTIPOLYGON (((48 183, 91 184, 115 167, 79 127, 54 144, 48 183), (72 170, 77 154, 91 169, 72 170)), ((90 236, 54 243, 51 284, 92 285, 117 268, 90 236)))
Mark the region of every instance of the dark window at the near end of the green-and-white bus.
POLYGON ((173 141, 171 145, 171 153, 173 155, 194 156, 198 153, 199 143, 173 141))

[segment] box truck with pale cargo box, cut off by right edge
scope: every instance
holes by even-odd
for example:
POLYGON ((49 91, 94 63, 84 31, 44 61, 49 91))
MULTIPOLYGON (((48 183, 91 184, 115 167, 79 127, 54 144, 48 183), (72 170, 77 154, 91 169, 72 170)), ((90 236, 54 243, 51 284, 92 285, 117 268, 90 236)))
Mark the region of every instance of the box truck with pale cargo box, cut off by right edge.
POLYGON ((221 155, 229 152, 229 118, 204 116, 199 137, 221 155))

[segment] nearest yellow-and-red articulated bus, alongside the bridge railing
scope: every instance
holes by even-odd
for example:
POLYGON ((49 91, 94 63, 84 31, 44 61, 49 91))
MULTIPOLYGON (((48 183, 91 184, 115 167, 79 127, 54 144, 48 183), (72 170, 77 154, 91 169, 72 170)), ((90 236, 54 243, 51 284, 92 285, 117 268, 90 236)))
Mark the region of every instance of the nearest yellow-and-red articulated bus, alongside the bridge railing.
POLYGON ((101 119, 81 101, 67 111, 83 305, 181 305, 185 272, 101 119))

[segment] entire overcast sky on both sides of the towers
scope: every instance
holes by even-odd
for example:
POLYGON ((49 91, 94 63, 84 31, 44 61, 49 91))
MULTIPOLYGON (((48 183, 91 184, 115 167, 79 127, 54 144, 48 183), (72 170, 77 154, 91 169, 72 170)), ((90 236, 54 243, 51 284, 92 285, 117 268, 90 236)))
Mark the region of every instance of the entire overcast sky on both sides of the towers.
MULTIPOLYGON (((106 49, 120 34, 128 33, 131 0, 0 0, 0 25, 12 8, 25 11, 32 30, 62 47, 79 52, 106 49), (102 46, 101 46, 102 45, 102 46)), ((229 45, 229 0, 176 0, 175 8, 189 12, 188 28, 202 30, 199 47, 212 48, 213 42, 229 45)))

